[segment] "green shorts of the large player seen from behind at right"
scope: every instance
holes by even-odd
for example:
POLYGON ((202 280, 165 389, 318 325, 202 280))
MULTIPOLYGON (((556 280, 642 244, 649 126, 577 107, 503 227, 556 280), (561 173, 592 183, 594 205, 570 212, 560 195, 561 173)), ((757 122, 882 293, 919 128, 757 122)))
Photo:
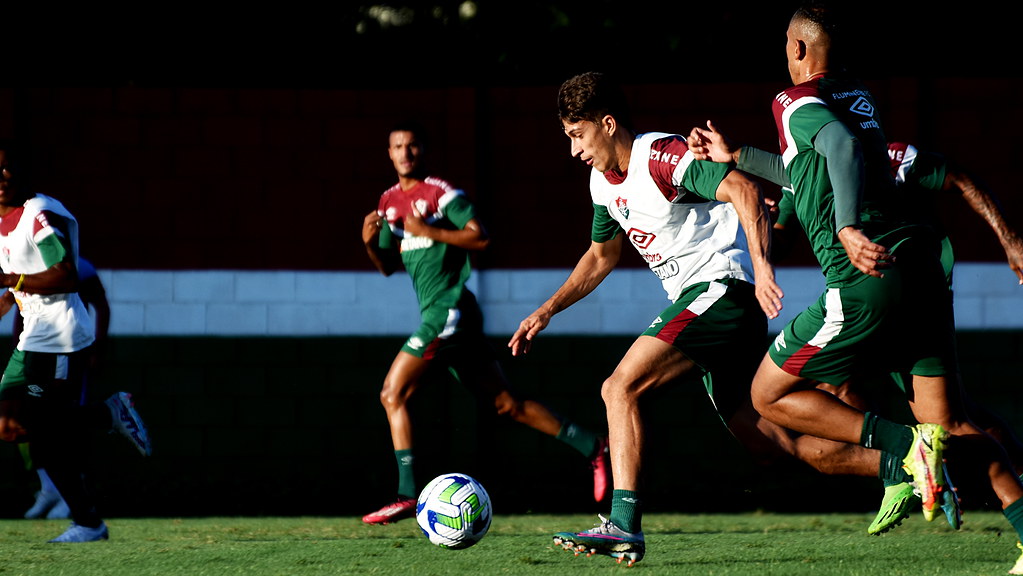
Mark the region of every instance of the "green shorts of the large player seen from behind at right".
POLYGON ((954 373, 951 293, 926 246, 902 245, 883 278, 864 275, 854 285, 828 289, 774 339, 768 350, 774 364, 836 386, 880 373, 954 373))

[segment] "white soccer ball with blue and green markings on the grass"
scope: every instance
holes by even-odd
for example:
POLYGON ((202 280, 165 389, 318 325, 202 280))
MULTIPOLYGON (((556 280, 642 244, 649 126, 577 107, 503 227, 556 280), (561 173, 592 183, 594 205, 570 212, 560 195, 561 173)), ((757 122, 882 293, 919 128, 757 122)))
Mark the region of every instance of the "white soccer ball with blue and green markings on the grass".
POLYGON ((415 503, 415 521, 427 538, 453 550, 479 542, 490 530, 491 516, 487 491, 464 474, 431 480, 415 503))

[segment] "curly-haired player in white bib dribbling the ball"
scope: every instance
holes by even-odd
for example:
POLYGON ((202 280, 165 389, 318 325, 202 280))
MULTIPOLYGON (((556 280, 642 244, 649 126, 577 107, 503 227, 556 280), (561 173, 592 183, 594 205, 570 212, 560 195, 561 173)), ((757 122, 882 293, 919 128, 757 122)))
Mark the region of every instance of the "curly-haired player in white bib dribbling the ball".
POLYGON ((766 347, 767 317, 779 314, 783 294, 768 259, 770 219, 758 184, 727 167, 694 162, 682 136, 636 136, 621 89, 603 74, 568 80, 559 107, 572 156, 593 169, 592 241, 508 346, 514 355, 528 352, 554 314, 611 273, 626 238, 661 279, 671 304, 602 388, 614 477, 611 516, 591 530, 554 535, 567 549, 632 564, 646 553, 640 400, 648 393, 702 376, 722 420, 744 445, 761 452, 787 442, 781 429, 733 418, 751 406, 749 387, 766 347))

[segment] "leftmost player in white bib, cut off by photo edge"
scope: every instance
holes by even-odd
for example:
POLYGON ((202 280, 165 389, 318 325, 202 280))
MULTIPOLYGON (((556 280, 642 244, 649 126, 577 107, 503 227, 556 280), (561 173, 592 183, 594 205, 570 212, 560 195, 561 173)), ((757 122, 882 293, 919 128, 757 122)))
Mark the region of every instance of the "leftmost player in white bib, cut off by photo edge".
POLYGON ((0 380, 0 439, 31 442, 71 509, 51 542, 108 537, 86 476, 88 430, 116 430, 150 452, 131 397, 80 403, 94 326, 78 295, 78 222, 56 200, 20 186, 13 145, 0 143, 0 316, 16 304, 24 329, 0 380))

